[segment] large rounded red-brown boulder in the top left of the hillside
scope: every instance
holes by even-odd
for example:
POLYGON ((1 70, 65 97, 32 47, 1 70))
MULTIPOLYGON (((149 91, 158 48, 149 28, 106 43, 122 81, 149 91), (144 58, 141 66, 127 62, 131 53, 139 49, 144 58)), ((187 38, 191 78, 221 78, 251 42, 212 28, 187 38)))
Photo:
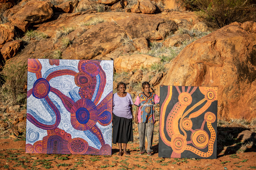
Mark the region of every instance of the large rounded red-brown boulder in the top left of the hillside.
POLYGON ((31 0, 9 19, 20 31, 26 32, 29 24, 41 23, 51 18, 52 15, 50 2, 31 0))

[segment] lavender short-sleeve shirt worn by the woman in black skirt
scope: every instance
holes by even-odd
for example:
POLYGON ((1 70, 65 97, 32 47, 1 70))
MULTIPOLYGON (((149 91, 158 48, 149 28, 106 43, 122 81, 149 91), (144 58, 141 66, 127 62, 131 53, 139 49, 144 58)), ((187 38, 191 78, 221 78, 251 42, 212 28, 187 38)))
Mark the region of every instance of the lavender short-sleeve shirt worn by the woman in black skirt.
POLYGON ((132 112, 130 105, 132 104, 132 96, 129 93, 125 97, 119 97, 117 93, 113 95, 113 113, 118 117, 131 119, 132 112))

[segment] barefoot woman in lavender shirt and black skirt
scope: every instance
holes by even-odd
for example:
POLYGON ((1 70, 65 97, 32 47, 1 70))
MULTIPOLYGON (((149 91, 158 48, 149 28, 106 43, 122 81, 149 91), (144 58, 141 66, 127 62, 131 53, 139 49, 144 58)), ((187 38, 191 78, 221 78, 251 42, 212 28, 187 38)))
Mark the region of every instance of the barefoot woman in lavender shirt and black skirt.
POLYGON ((130 155, 126 151, 129 141, 133 141, 132 134, 132 96, 125 92, 126 85, 123 82, 117 84, 117 93, 113 95, 113 144, 118 143, 119 153, 122 156, 122 143, 124 144, 124 154, 130 155))

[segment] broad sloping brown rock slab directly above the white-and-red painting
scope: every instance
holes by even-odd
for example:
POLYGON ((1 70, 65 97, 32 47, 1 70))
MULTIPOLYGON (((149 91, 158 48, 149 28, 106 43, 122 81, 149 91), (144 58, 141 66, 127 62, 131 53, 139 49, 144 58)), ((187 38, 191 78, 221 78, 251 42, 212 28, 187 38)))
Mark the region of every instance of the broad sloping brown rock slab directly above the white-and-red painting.
POLYGON ((63 58, 70 59, 72 55, 74 59, 92 59, 100 54, 106 55, 122 44, 123 37, 124 30, 114 22, 97 24, 74 39, 76 43, 65 50, 63 58))

